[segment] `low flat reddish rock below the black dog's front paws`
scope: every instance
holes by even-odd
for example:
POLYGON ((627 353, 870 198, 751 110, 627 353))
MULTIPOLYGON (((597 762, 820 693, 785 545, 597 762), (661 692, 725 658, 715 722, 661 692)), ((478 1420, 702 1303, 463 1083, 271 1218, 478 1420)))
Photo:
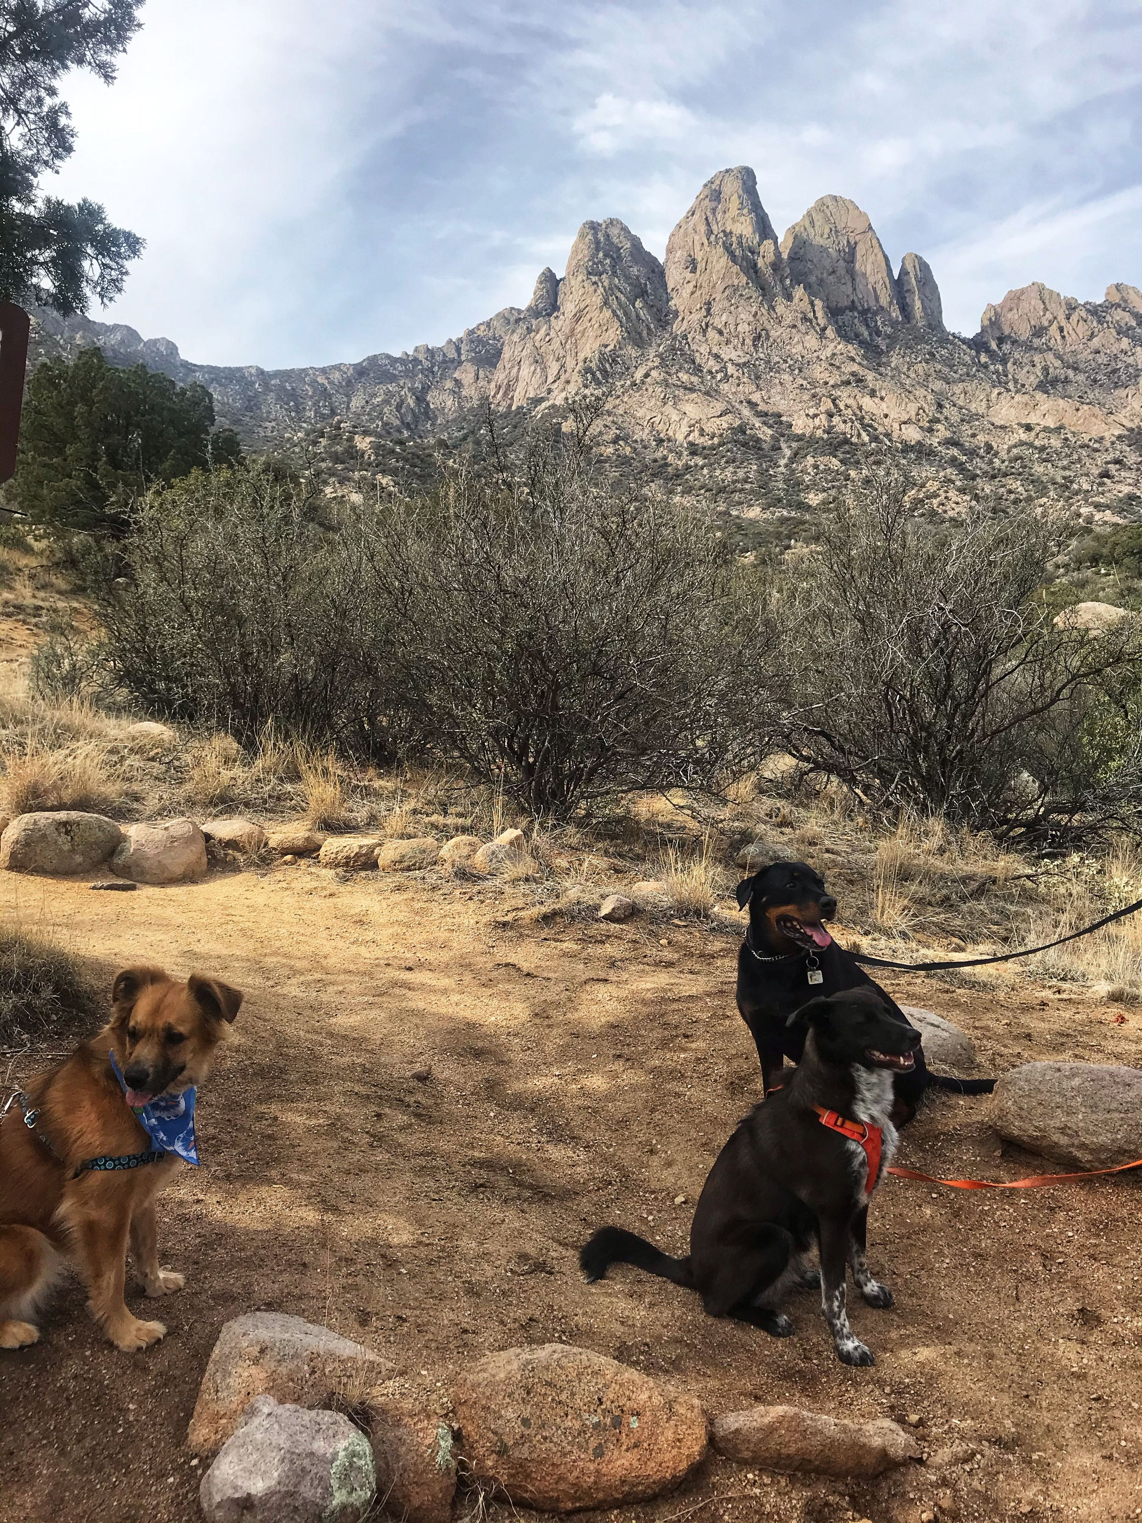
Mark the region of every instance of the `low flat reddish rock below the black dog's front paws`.
POLYGON ((847 1422, 802 1407, 726 1412, 711 1426, 714 1448, 743 1465, 816 1470, 825 1476, 879 1476, 920 1459, 915 1438, 889 1418, 847 1422))

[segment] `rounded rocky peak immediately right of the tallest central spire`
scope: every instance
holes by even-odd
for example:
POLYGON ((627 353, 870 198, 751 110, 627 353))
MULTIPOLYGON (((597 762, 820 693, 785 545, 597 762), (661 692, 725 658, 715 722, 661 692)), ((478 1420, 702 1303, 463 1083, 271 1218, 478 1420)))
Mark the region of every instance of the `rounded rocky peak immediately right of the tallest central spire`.
MULTIPOLYGON (((888 254, 856 201, 821 196, 786 231, 781 253, 793 285, 804 286, 830 312, 856 311, 903 321, 888 254)), ((930 270, 927 276, 932 277, 930 270)))

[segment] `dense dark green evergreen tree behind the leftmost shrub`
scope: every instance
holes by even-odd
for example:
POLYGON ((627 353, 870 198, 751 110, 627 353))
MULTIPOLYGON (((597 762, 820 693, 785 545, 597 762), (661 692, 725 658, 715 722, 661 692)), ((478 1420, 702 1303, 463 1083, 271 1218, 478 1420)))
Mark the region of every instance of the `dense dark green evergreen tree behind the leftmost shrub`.
POLYGON ((213 422, 203 385, 116 369, 99 349, 47 359, 27 382, 9 501, 55 532, 120 535, 146 487, 242 458, 233 429, 213 422))

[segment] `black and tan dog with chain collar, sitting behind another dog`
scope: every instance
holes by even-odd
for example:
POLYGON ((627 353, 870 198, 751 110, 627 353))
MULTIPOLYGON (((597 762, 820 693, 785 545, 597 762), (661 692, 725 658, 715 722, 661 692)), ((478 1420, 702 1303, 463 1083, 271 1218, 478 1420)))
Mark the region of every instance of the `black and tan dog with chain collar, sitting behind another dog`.
MULTIPOLYGON (((874 984, 851 952, 825 931, 836 900, 805 862, 775 862, 737 885, 737 903, 749 906, 746 938, 737 955, 737 1008, 757 1043, 766 1094, 781 1083, 789 1057, 801 1062, 807 1027, 790 1016, 813 995, 871 988, 892 1014, 911 1025, 900 1007, 874 984)), ((933 1074, 917 1045, 915 1065, 895 1081, 898 1125, 911 1121, 927 1087, 958 1095, 987 1095, 993 1078, 933 1074)))

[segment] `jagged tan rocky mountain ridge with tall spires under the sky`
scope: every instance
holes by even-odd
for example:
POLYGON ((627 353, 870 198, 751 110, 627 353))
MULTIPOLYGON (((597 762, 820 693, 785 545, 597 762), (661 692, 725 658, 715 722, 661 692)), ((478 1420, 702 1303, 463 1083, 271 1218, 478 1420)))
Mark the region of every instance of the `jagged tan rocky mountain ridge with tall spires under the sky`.
MULTIPOLYGON (((87 343, 113 362, 207 385, 219 420, 256 448, 349 429, 362 468, 378 440, 428 440, 487 405, 542 410, 604 385, 614 437, 667 465, 694 449, 734 454, 743 439, 761 449, 778 439, 786 454, 816 440, 831 458, 845 443, 894 442, 932 455, 962 495, 964 449, 1005 460, 1031 434, 1052 455, 1037 495, 1084 492, 1095 515, 1142 512, 1137 288, 1115 282, 1095 303, 1031 282, 990 303, 964 338, 944 326, 921 254, 894 271, 868 215, 841 195, 821 196, 778 238, 748 166, 702 186, 662 260, 617 218, 588 221, 563 276, 541 271, 525 308, 411 353, 204 366, 122 324, 38 314, 37 353, 87 343)), ((746 465, 745 477, 729 461, 713 478, 740 510, 751 509, 746 478, 760 480, 757 458, 746 465)))

